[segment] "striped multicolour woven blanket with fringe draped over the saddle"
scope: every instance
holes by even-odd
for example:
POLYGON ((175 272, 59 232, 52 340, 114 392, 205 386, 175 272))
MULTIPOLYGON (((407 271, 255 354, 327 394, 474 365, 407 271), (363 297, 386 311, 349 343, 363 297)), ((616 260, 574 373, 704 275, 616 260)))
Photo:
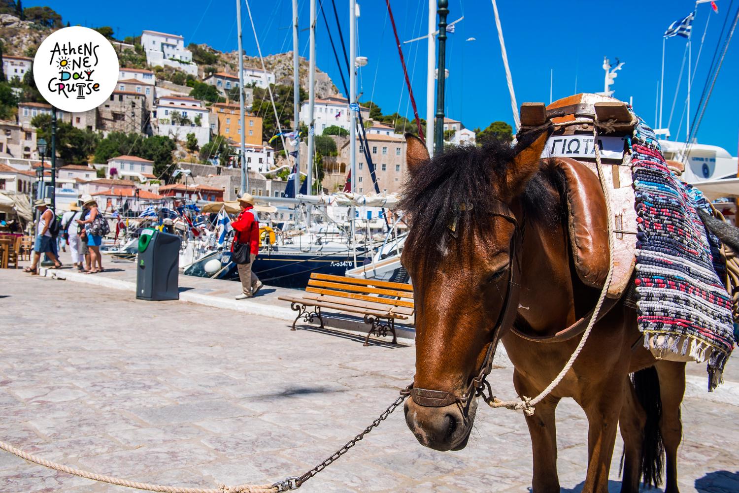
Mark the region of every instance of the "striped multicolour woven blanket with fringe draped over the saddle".
POLYGON ((637 322, 655 356, 708 361, 708 389, 723 381, 734 347, 732 298, 721 242, 696 210, 711 211, 697 188, 667 169, 654 132, 639 119, 630 140, 636 197, 637 322), (677 358, 670 353, 679 355, 677 358))

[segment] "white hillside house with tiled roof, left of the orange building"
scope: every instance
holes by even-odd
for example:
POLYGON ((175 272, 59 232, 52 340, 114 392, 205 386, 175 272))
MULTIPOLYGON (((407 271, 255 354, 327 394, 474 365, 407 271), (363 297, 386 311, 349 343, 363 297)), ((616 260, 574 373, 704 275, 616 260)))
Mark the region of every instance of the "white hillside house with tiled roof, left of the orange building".
POLYGON ((157 101, 154 116, 157 120, 157 135, 166 135, 174 140, 186 140, 192 133, 199 146, 211 141, 210 111, 202 101, 183 96, 163 96, 157 101))

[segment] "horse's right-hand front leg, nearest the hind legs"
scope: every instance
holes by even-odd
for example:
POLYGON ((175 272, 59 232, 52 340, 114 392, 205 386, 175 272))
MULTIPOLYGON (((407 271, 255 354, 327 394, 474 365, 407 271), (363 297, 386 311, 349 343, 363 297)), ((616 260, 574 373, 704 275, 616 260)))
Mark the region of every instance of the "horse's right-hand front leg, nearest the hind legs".
MULTIPOLYGON (((620 373, 613 368, 613 373, 620 373)), ((585 392, 588 400, 579 402, 588 416, 588 475, 583 493, 608 493, 608 473, 616 444, 616 428, 624 401, 627 374, 593 382, 585 392)))

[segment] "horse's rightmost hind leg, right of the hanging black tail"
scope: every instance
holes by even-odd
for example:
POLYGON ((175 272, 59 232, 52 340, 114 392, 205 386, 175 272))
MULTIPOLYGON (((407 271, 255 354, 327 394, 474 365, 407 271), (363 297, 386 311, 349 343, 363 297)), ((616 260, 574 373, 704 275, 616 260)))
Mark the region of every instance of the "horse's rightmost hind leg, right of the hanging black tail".
POLYGON ((655 363, 662 400, 660 431, 664 443, 666 477, 664 493, 678 493, 678 446, 683 433, 680 403, 685 393, 685 363, 661 360, 655 363))

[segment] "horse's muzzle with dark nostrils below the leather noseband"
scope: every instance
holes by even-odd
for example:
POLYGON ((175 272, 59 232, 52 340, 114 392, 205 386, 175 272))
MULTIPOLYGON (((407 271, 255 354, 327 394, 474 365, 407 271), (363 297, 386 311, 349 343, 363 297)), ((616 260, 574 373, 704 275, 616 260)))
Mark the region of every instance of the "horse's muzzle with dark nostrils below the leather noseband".
POLYGON ((417 404, 413 397, 406 401, 406 424, 421 445, 446 452, 461 450, 467 445, 472 429, 477 401, 469 403, 465 413, 457 403, 442 407, 417 404))

